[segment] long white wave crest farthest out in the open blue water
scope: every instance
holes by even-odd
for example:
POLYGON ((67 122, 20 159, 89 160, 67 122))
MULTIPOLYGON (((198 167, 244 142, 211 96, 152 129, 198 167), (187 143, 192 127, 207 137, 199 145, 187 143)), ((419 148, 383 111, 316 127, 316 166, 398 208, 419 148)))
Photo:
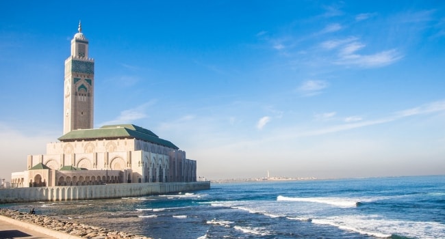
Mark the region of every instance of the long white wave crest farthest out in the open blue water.
POLYGON ((277 201, 302 201, 310 203, 325 203, 342 208, 355 208, 359 201, 370 201, 369 199, 352 199, 344 197, 284 197, 279 195, 277 201))

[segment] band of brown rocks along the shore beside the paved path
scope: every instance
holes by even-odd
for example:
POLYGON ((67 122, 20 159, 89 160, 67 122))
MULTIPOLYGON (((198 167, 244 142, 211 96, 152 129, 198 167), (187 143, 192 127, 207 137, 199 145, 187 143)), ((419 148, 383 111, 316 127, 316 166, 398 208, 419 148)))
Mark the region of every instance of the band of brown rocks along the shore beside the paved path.
POLYGON ((8 216, 11 219, 21 221, 24 223, 38 225, 45 227, 53 231, 59 231, 64 234, 77 236, 79 238, 91 238, 91 239, 150 239, 146 236, 138 236, 135 234, 129 234, 123 231, 114 231, 105 229, 102 227, 94 227, 84 225, 83 223, 74 223, 71 221, 63 221, 59 219, 53 219, 51 216, 43 216, 36 214, 29 214, 18 212, 16 210, 9 210, 5 208, 0 209, 1 216, 8 216))

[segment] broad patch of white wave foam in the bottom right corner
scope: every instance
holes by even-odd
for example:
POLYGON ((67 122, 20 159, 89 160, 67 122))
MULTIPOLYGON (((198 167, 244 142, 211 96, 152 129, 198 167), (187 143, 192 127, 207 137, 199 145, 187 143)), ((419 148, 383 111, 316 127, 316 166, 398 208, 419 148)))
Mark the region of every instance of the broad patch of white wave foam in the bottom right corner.
POLYGON ((392 235, 409 238, 442 238, 445 225, 435 222, 416 222, 384 219, 381 216, 330 216, 312 219, 312 223, 331 225, 359 234, 388 238, 392 235))

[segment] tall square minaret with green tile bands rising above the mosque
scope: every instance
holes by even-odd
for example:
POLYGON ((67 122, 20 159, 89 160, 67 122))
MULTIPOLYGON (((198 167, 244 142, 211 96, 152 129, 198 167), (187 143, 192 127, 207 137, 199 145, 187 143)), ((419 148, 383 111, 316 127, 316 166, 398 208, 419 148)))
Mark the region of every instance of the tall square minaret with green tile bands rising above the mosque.
POLYGON ((71 56, 65 60, 64 135, 93 128, 94 60, 88 58, 88 40, 80 21, 78 31, 71 40, 71 56))

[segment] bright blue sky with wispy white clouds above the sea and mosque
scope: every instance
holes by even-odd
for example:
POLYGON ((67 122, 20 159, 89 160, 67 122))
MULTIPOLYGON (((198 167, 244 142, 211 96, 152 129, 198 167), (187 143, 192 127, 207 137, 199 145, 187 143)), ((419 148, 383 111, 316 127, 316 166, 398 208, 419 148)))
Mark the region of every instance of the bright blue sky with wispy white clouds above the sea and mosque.
POLYGON ((79 20, 94 126, 149 128, 209 179, 445 173, 443 1, 2 1, 0 176, 62 135, 79 20))

